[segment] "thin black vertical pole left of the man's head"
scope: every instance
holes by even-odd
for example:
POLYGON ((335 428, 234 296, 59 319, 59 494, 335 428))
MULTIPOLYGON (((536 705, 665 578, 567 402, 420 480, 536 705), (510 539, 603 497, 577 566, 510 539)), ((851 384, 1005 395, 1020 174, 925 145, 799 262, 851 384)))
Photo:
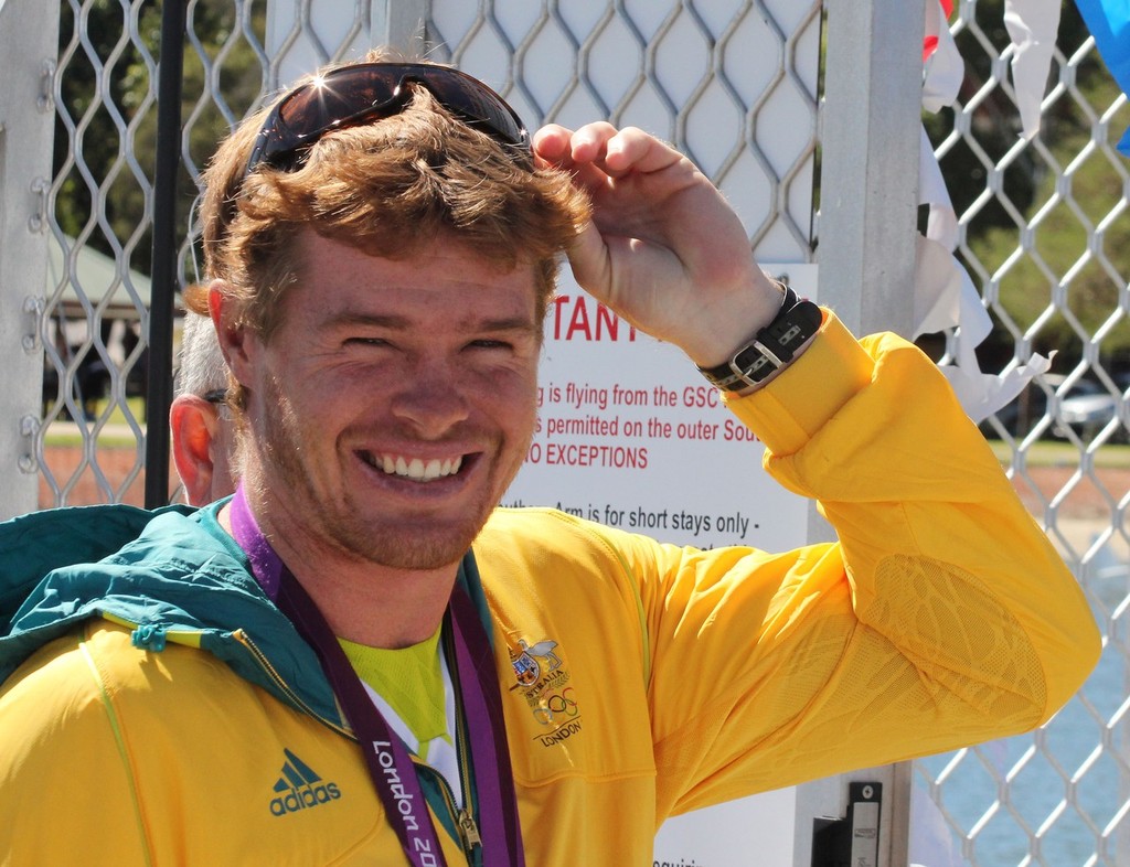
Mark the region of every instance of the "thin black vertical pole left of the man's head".
POLYGON ((184 0, 164 0, 157 64, 157 164, 153 193, 149 376, 145 404, 145 505, 168 502, 168 408, 173 400, 173 315, 176 298, 176 176, 181 167, 184 0))

